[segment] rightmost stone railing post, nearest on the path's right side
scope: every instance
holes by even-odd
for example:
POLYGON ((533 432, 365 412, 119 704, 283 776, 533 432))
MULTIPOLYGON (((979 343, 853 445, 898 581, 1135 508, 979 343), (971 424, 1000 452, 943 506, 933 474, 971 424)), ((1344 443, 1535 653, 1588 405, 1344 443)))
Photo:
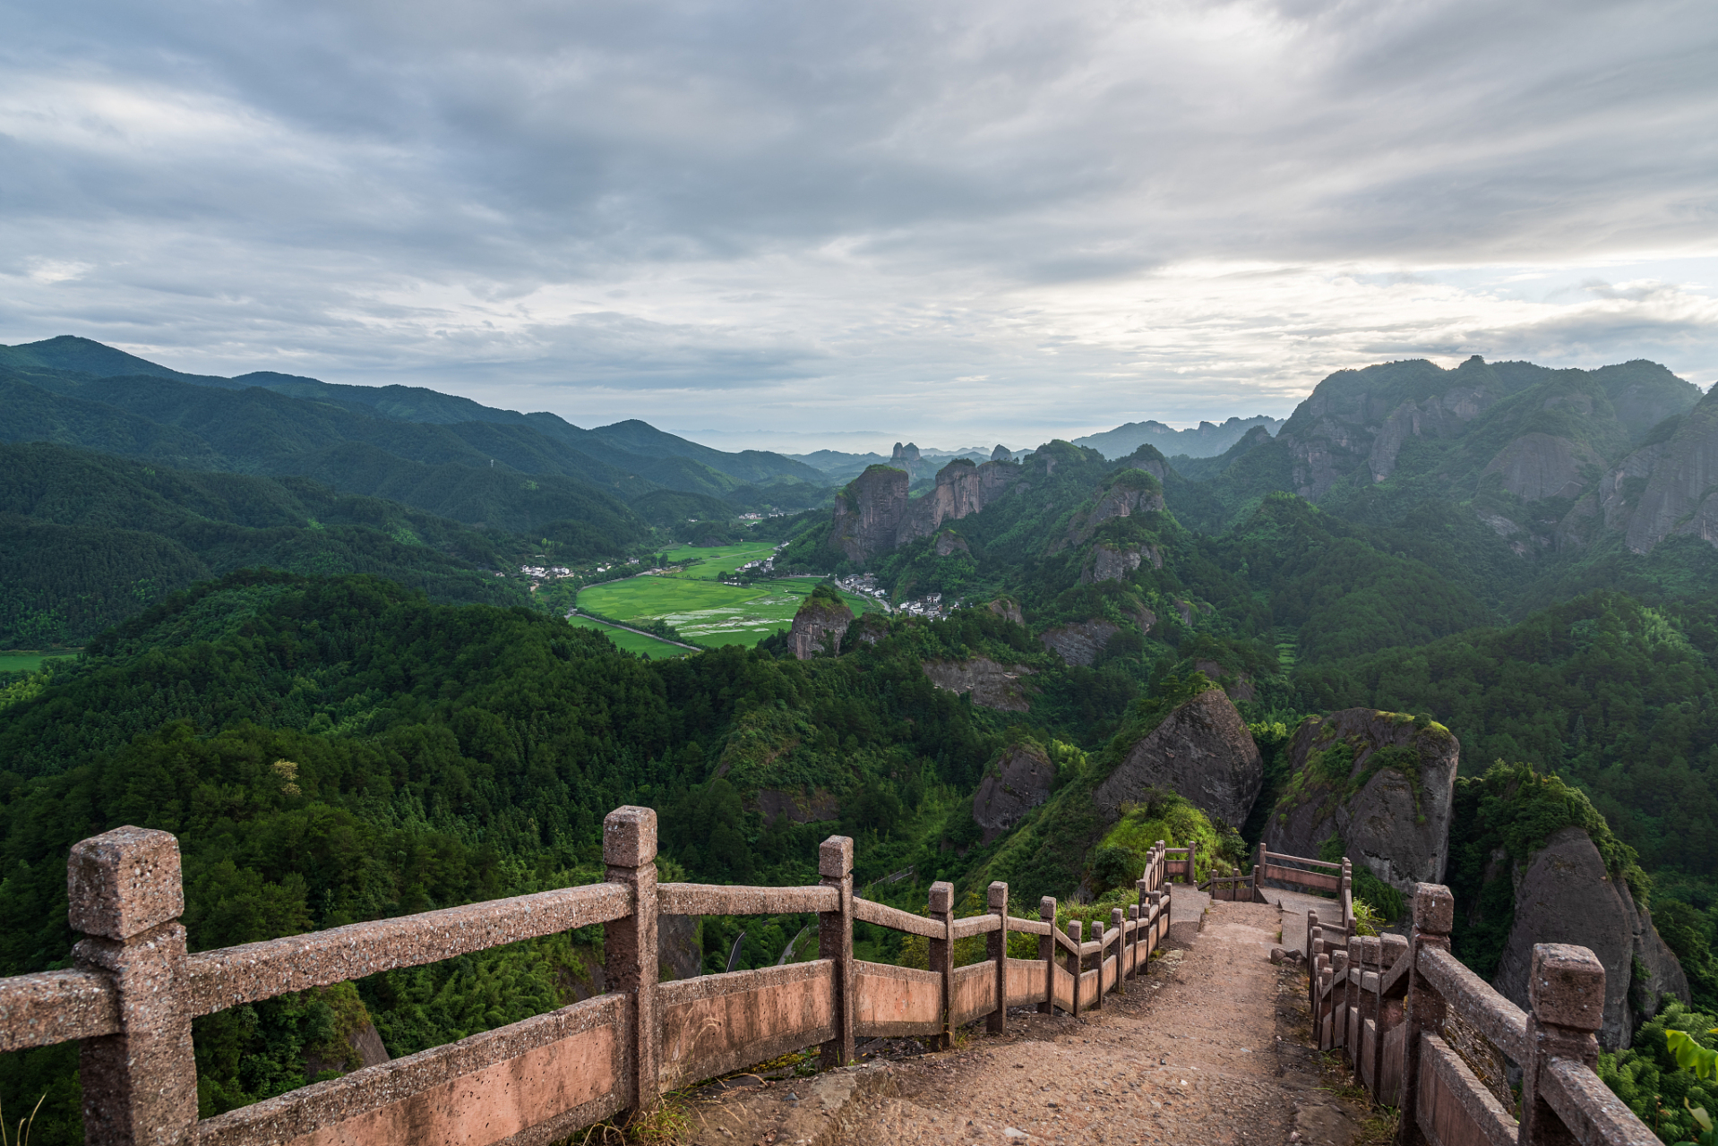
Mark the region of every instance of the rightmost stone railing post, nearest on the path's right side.
POLYGON ((1574 1146, 1557 1112, 1539 1096, 1539 1076, 1553 1058, 1584 1067, 1599 1060, 1605 1022, 1605 964, 1586 947, 1534 943, 1527 979, 1527 1062, 1520 1064, 1520 1146, 1574 1146))

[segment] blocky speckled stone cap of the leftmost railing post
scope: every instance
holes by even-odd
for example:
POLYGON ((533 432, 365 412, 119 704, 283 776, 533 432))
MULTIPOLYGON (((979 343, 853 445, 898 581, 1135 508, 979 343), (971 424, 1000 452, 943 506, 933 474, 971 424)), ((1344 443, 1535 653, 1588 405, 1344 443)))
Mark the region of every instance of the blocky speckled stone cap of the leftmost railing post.
POLYGON ((186 914, 179 840, 153 828, 113 828, 72 845, 65 912, 74 931, 129 940, 186 914))

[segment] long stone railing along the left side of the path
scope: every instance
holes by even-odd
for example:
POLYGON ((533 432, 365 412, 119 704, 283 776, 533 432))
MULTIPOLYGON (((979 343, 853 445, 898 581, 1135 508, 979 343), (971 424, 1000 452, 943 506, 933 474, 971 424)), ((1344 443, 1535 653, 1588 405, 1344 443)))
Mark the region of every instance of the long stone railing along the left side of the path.
POLYGON ((813 887, 656 883, 656 813, 618 808, 603 821, 606 880, 290 938, 187 952, 179 840, 115 828, 72 847, 70 924, 84 938, 74 969, 0 979, 0 1052, 81 1039, 84 1136, 125 1146, 333 1146, 335 1143, 550 1143, 660 1094, 789 1052, 821 1046, 825 1065, 854 1058, 862 1036, 924 1036, 1008 1007, 1079 1014, 1144 966, 1170 924, 1170 875, 1192 854, 1158 842, 1137 880, 1139 904, 1082 936, 990 911, 955 919, 953 887, 933 883, 929 917, 854 895, 852 840, 830 837, 813 887), (818 914, 818 959, 656 981, 656 917, 818 914), (854 919, 923 935, 929 969, 852 957, 854 919), (191 1021, 287 991, 345 983, 521 940, 603 924, 608 993, 447 1046, 316 1082, 213 1119, 198 1119, 191 1021), (1008 933, 1038 936, 1038 959, 1010 959, 1008 933), (988 936, 988 959, 953 966, 955 942, 988 936))

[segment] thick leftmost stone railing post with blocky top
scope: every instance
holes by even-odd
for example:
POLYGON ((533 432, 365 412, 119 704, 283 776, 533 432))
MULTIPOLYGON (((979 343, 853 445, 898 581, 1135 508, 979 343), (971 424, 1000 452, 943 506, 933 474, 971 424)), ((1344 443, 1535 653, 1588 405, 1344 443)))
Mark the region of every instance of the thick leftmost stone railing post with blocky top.
POLYGON ((65 885, 67 919, 84 933, 72 962, 108 974, 119 991, 119 1034, 86 1038, 79 1055, 84 1141, 191 1143, 198 1064, 191 1015, 174 991, 186 966, 179 840, 131 826, 81 840, 65 864, 65 885))

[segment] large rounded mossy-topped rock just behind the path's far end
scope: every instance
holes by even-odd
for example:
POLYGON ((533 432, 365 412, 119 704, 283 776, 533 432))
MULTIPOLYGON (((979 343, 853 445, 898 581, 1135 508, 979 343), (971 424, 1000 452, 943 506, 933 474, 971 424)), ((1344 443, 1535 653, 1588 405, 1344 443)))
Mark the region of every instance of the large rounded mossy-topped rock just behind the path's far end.
POLYGON ((1448 728, 1404 713, 1307 716, 1288 746, 1288 785, 1264 845, 1316 857, 1335 835, 1349 859, 1402 892, 1441 883, 1460 751, 1448 728))

